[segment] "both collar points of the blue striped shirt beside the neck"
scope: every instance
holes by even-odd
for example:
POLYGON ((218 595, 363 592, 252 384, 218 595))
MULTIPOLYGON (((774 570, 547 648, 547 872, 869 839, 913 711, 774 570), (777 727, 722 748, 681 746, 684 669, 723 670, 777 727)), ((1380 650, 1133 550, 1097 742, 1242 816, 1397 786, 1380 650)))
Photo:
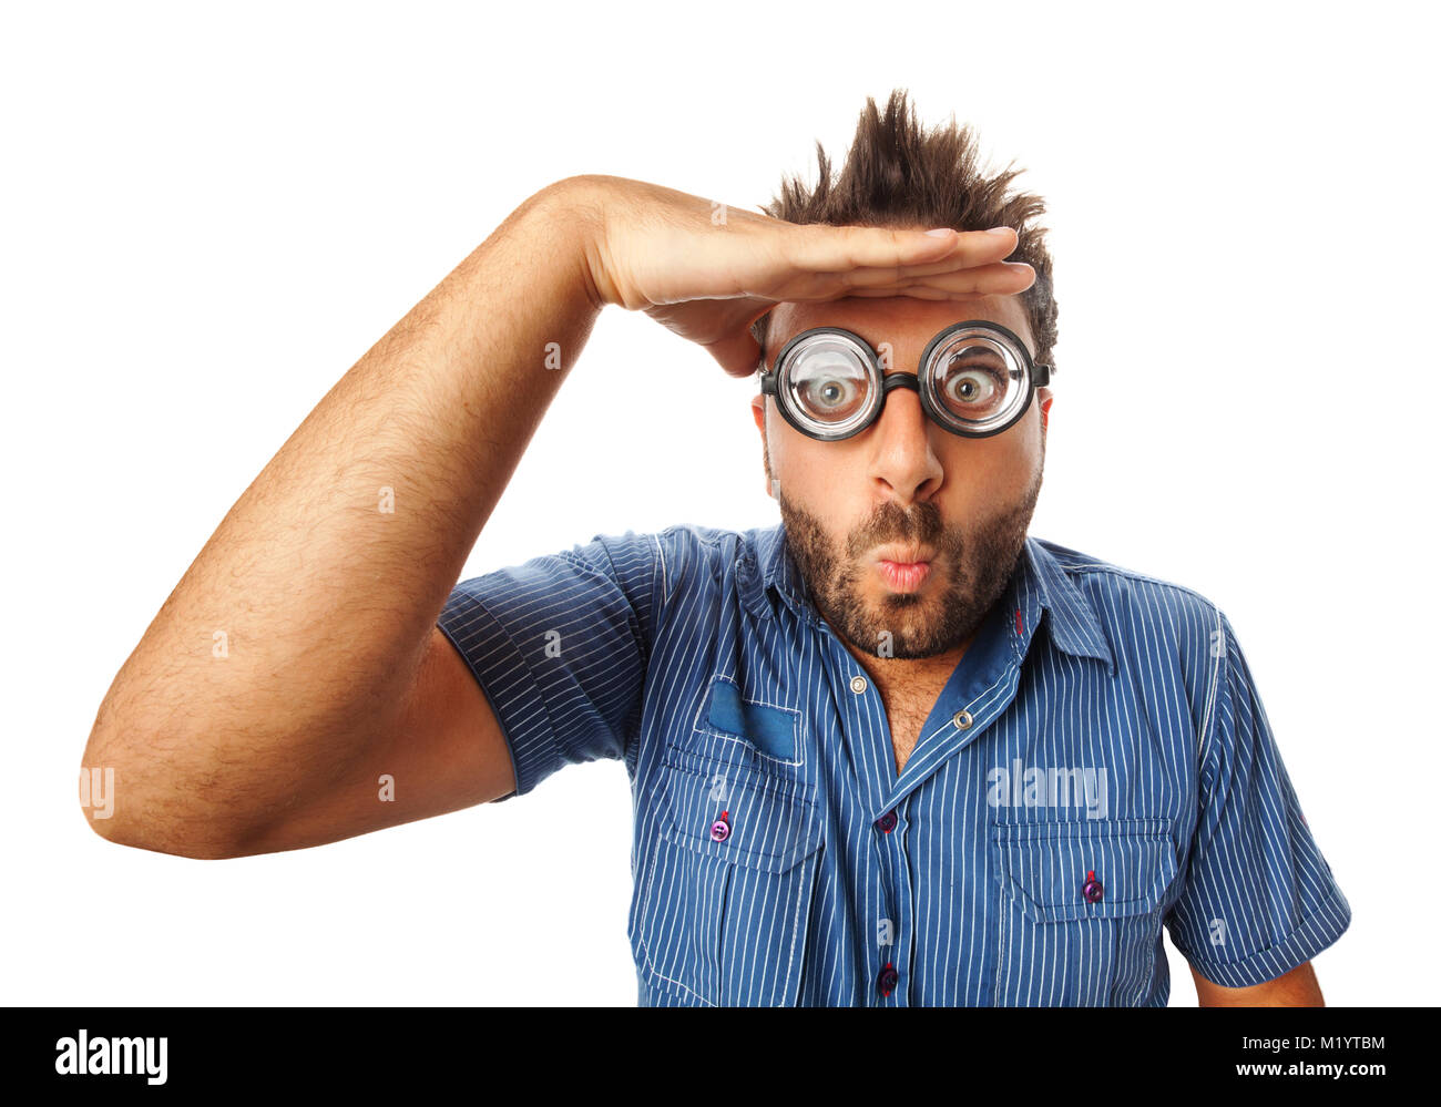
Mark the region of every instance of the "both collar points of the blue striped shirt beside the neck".
MULTIPOLYGON (((762 618, 772 618, 774 603, 778 600, 798 615, 818 621, 810 591, 785 545, 785 525, 777 523, 751 533, 752 541, 746 543, 739 571, 741 598, 746 610, 762 618)), ((1107 644, 1095 607, 1040 539, 1026 536, 1026 546, 1016 562, 1016 574, 1007 592, 1007 600, 1010 598, 1027 631, 1039 626, 1042 613, 1049 613, 1046 618, 1050 640, 1059 649, 1075 657, 1105 662, 1115 676, 1115 657, 1107 644)), ((1025 637, 1029 644, 1030 634, 1026 633, 1025 637)))

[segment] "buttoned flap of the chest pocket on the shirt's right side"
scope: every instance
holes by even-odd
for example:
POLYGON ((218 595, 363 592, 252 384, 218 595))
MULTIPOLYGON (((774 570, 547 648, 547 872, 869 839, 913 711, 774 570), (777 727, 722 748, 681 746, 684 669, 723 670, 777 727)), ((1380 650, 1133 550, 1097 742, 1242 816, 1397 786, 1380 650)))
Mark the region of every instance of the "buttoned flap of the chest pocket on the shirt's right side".
POLYGON ((1164 819, 1088 819, 1075 823, 993 826, 997 873, 1014 902, 1038 922, 1144 915, 1176 879, 1176 849, 1164 819), (1101 899, 1082 888, 1088 873, 1101 899))

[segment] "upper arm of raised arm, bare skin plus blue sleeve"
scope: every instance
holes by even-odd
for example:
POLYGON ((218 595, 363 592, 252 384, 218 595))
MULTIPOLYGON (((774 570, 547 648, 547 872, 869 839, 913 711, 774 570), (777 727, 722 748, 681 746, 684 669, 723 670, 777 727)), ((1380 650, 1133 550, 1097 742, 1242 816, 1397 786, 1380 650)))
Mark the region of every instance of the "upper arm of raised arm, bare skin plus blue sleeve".
POLYGON ((461 581, 395 722, 226 856, 301 849, 525 794, 638 729, 663 555, 597 538, 461 581))

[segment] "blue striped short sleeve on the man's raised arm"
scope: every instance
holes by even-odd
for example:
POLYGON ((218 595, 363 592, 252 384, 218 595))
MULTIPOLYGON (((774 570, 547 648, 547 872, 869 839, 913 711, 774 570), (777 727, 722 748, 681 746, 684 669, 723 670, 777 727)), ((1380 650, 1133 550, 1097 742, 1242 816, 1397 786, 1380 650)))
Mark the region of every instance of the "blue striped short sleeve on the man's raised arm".
POLYGON ((437 626, 500 721, 516 773, 501 799, 625 755, 663 587, 660 538, 631 530, 455 585, 437 626))

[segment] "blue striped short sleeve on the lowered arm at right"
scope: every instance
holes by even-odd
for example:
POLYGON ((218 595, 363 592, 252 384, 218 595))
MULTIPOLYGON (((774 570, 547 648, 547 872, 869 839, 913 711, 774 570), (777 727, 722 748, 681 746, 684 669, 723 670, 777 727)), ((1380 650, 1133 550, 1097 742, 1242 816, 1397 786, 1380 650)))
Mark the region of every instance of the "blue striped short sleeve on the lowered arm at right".
POLYGON ((1203 977, 1249 987, 1334 943, 1350 925, 1350 905, 1301 814, 1235 631, 1216 614, 1200 810, 1167 928, 1203 977))

